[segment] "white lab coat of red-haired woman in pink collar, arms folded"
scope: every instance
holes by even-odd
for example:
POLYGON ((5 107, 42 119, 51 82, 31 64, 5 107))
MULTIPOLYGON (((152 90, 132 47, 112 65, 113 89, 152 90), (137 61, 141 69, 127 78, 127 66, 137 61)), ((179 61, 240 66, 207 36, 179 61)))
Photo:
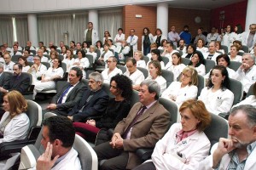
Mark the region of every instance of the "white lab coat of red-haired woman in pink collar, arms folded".
POLYGON ((176 144, 176 134, 181 129, 181 123, 173 124, 166 135, 155 144, 151 157, 156 169, 195 170, 198 163, 208 155, 211 144, 203 132, 197 131, 176 144), (177 156, 177 153, 182 157, 177 156))

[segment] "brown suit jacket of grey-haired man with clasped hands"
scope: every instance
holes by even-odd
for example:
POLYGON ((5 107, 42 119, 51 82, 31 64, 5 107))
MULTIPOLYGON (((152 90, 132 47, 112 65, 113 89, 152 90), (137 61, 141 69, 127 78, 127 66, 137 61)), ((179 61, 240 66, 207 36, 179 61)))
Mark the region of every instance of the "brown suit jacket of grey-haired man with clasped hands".
MULTIPOLYGON (((114 128, 114 133, 123 135, 142 106, 140 102, 133 105, 128 116, 114 128)), ((131 138, 123 141, 124 150, 129 152, 127 169, 132 169, 142 163, 136 155, 136 150, 139 148, 153 148, 156 142, 166 133, 170 120, 170 113, 158 101, 138 118, 132 127, 131 138)))

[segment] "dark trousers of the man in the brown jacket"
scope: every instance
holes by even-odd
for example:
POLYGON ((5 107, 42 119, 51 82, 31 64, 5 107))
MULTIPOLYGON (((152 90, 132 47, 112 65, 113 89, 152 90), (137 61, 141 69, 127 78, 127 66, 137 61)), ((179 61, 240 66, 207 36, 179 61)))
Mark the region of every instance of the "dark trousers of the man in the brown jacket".
POLYGON ((99 144, 93 148, 98 156, 99 169, 118 170, 125 169, 129 153, 124 150, 113 149, 109 142, 99 144), (102 160, 106 160, 101 163, 102 160))

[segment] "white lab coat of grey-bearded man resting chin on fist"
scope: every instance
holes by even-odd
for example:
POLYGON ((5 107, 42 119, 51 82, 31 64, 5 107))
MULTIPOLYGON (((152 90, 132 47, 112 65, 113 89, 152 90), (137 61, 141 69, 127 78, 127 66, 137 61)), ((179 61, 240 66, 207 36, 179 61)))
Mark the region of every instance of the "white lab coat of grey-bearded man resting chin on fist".
MULTIPOLYGON (((217 144, 218 143, 214 144, 212 146, 212 148, 217 148, 217 144)), ((213 154, 214 150, 211 152, 213 154)), ((213 165, 212 154, 210 156, 207 156, 207 158, 204 159, 203 161, 201 161, 199 163, 199 166, 196 169, 197 170, 212 170, 212 165, 213 165)), ((245 163, 244 170, 256 169, 255 155, 256 155, 256 150, 254 149, 253 152, 247 157, 247 161, 245 163)), ((225 169, 227 169, 229 164, 230 164, 230 156, 229 156, 229 154, 225 154, 220 161, 218 169, 225 170, 225 169)))

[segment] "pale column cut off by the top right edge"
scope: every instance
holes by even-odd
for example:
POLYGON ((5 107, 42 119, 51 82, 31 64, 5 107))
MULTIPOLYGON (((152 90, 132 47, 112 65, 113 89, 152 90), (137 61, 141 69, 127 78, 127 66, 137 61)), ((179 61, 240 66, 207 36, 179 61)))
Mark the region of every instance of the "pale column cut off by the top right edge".
POLYGON ((245 31, 249 31, 249 26, 251 24, 256 24, 256 1, 255 0, 248 0, 247 2, 247 19, 246 19, 246 26, 245 31))

